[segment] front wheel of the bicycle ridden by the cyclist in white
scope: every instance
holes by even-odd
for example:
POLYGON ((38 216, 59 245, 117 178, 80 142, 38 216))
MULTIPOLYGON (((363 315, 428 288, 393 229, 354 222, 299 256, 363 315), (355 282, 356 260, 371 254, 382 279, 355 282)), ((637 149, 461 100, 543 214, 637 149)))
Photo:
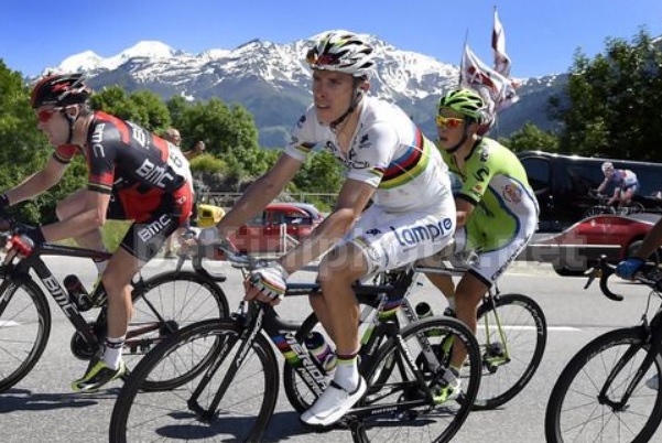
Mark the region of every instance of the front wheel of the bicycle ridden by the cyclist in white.
POLYGON ((279 368, 262 334, 254 336, 252 347, 238 361, 237 350, 246 342, 242 332, 236 322, 210 320, 189 325, 156 345, 140 360, 118 396, 109 441, 259 442, 275 408, 279 368), (191 372, 191 367, 210 354, 210 365, 185 385, 140 392, 154 375, 191 372), (205 377, 210 381, 202 385, 205 377), (209 413, 203 411, 225 382, 227 389, 218 407, 209 413))

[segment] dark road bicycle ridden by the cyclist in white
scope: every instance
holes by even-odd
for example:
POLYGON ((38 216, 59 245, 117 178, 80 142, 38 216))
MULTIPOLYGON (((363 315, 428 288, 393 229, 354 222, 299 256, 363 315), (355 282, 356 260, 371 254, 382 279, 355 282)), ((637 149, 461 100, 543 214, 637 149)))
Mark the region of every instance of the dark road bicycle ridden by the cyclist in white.
MULTIPOLYGON (((256 266, 231 253, 228 259, 243 272, 256 266)), ((431 316, 401 328, 393 320, 408 310, 402 300, 415 275, 410 266, 392 273, 386 284, 355 287, 363 305, 359 370, 368 390, 338 424, 351 432, 355 442, 447 442, 476 398, 480 354, 463 323, 431 316), (447 401, 439 396, 449 359, 444 343, 462 344, 468 354, 459 374, 462 391, 447 401)), ((291 283, 286 295, 318 291, 316 283, 291 283)), ((271 305, 242 301, 230 320, 182 328, 155 346, 126 380, 112 411, 110 442, 155 437, 260 442, 278 399, 280 370, 274 348, 313 398, 330 382, 325 366, 297 334, 300 327, 281 318, 271 305), (204 370, 199 370, 200 360, 207 361, 204 370), (176 389, 143 392, 144 380, 154 372, 196 376, 176 389)))

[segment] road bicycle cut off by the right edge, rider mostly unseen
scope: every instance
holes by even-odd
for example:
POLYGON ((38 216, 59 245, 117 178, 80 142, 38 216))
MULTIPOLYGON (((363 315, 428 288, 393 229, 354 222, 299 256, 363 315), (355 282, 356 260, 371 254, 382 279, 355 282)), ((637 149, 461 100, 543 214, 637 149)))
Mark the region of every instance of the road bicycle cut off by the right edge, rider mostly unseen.
MULTIPOLYGON (((615 267, 601 259, 585 288, 599 277, 601 292, 615 267)), ((649 321, 653 299, 662 299, 662 273, 649 266, 634 280, 650 288, 641 322, 607 332, 584 346, 565 366, 547 401, 545 435, 550 443, 650 441, 662 420, 662 311, 649 321)))

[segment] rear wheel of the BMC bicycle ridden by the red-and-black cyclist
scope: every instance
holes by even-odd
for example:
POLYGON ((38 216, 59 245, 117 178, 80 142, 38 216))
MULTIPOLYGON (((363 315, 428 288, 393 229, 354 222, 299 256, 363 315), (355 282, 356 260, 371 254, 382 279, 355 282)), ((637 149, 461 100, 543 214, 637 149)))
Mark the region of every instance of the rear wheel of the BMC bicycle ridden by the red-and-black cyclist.
MULTIPOLYGON (((123 353, 127 366, 135 366, 155 344, 177 329, 203 320, 226 318, 228 312, 220 287, 196 272, 165 272, 145 280, 133 294, 133 316, 123 353)), ((191 374, 174 378, 165 374, 153 378, 152 374, 142 388, 174 389, 195 377, 196 368, 191 369, 191 374)))

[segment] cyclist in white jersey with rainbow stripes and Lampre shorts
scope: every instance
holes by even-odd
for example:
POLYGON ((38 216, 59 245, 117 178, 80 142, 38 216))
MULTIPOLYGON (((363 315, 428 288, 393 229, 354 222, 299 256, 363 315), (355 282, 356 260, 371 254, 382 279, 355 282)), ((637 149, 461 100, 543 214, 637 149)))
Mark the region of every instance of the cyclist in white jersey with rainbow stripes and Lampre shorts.
POLYGON ((220 223, 200 233, 219 241, 261 212, 318 145, 347 170, 335 209, 294 249, 254 270, 247 299, 276 304, 287 277, 325 255, 318 266, 322 295, 311 296, 336 344, 334 381, 301 419, 328 425, 366 391, 357 367, 359 307, 351 285, 439 251, 455 231, 455 205, 446 165, 404 111, 367 96, 373 48, 363 37, 334 31, 308 52, 314 104, 299 120, 278 163, 254 182, 220 223), (372 199, 372 205, 368 202, 372 199))

